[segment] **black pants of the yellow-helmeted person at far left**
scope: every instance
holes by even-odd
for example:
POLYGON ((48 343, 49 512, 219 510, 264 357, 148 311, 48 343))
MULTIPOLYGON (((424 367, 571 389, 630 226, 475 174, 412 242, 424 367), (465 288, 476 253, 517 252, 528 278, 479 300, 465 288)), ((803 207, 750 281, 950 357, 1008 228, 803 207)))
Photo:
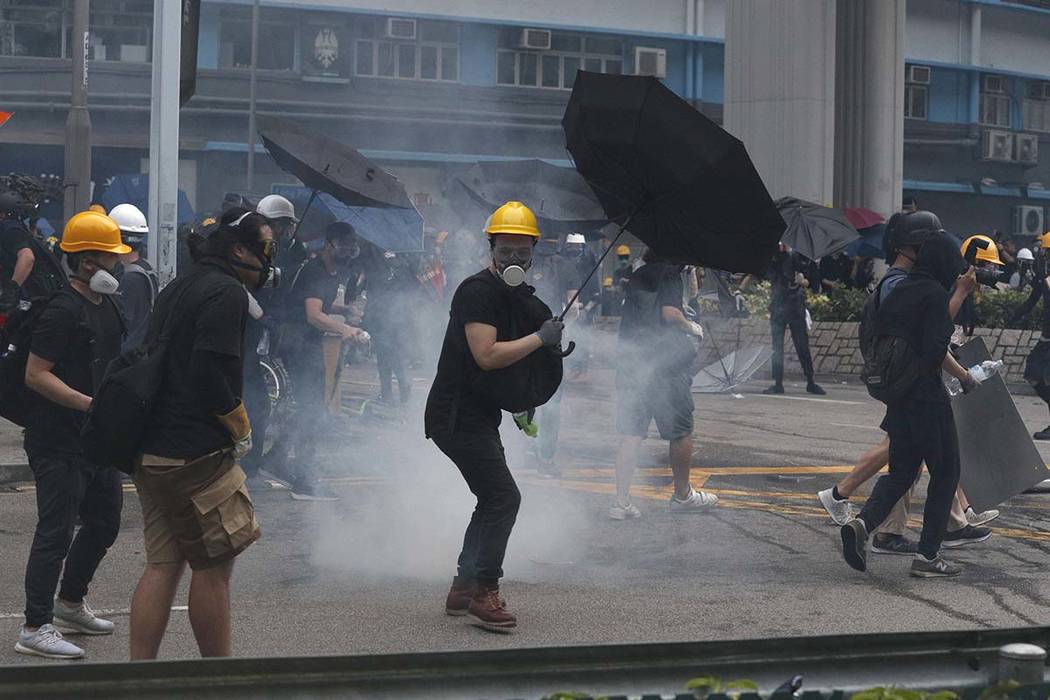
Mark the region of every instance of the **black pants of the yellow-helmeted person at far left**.
POLYGON ((29 468, 37 482, 37 531, 25 566, 25 624, 35 628, 52 619, 60 574, 63 600, 79 602, 87 595, 120 532, 124 491, 116 469, 76 458, 30 453, 29 468))

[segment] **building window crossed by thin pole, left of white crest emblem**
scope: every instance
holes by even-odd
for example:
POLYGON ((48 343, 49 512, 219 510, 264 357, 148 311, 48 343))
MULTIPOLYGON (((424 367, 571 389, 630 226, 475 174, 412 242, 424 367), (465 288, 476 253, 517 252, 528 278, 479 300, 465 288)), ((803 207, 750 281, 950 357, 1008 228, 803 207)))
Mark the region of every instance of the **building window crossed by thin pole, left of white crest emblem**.
MULTIPOLYGON (((252 67, 252 10, 223 7, 219 18, 218 66, 252 67)), ((262 7, 259 10, 258 67, 261 70, 296 70, 299 25, 292 13, 262 7)))

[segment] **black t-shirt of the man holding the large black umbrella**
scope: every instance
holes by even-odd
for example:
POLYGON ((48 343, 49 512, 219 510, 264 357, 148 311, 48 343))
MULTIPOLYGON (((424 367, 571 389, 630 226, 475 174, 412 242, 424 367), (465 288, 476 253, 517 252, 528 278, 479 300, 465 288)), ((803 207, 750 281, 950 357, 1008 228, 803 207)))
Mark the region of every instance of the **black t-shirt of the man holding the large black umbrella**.
MULTIPOLYGON (((478 274, 491 273, 486 270, 478 274)), ((482 369, 467 345, 466 324, 485 323, 496 327, 497 340, 516 340, 510 338, 506 303, 499 290, 471 278, 456 290, 438 359, 438 373, 426 400, 424 424, 427 438, 450 432, 496 432, 499 429, 502 420, 499 406, 471 390, 474 379, 482 369)))

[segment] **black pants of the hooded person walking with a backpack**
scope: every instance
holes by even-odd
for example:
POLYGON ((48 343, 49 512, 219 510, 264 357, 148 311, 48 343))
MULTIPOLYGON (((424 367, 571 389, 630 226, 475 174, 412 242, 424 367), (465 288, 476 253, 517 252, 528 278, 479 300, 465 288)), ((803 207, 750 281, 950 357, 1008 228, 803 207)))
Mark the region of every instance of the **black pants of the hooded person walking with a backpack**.
POLYGON ((915 484, 925 461, 929 488, 919 552, 932 558, 947 532, 951 500, 959 486, 959 438, 951 405, 908 401, 906 405, 890 406, 882 428, 889 436, 889 473, 875 485, 860 518, 868 532, 875 532, 915 484))

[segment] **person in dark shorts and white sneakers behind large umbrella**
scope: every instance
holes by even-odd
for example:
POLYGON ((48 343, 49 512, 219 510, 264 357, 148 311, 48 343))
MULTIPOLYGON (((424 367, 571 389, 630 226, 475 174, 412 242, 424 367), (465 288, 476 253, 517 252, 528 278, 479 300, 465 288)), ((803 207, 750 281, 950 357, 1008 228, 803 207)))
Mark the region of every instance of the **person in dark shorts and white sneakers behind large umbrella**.
POLYGON ((668 441, 674 493, 672 513, 695 513, 714 506, 718 496, 697 491, 690 483, 693 458, 693 374, 696 347, 702 337, 698 323, 681 307, 680 269, 647 251, 645 264, 627 285, 620 324, 620 364, 616 372, 616 427, 621 434, 616 455, 616 501, 609 508, 615 521, 640 517, 631 503, 631 482, 638 450, 656 421, 668 441))

